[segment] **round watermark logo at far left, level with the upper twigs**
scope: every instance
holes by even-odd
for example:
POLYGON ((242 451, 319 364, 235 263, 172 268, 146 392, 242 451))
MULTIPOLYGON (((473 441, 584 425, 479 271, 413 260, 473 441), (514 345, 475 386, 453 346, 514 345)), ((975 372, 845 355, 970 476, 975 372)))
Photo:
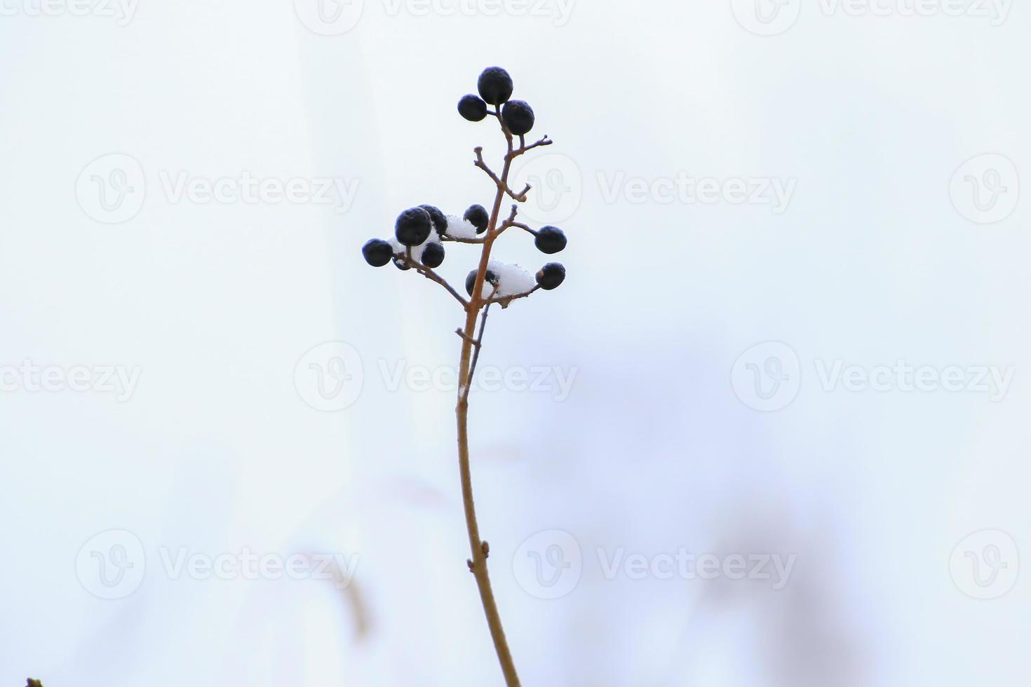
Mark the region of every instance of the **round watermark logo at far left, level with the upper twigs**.
POLYGON ((146 197, 143 168, 122 152, 101 156, 87 165, 75 182, 75 198, 87 215, 118 225, 139 214, 146 197))

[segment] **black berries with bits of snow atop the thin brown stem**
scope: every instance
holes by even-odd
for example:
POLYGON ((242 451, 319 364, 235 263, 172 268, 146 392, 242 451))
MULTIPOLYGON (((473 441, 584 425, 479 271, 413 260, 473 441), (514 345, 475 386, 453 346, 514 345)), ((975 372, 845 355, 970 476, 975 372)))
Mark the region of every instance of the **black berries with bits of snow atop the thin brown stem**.
MULTIPOLYGON (((508 72, 501 67, 485 69, 476 85, 479 96, 471 94, 464 96, 458 104, 459 113, 470 122, 480 122, 489 114, 497 117, 509 141, 509 154, 512 152, 512 135, 520 137, 521 148, 518 152, 529 149, 525 147, 523 137, 533 129, 533 109, 525 101, 509 100, 512 94, 512 79, 508 72), (488 108, 488 104, 494 106, 493 111, 488 108)), ((550 142, 545 140, 545 143, 550 142)), ((478 151, 479 148, 477 153, 478 151)), ((495 181, 499 185, 506 183, 498 179, 495 181)), ((501 195, 503 194, 499 192, 499 199, 501 195)), ((519 200, 525 200, 525 195, 519 200)), ((512 215, 514 216, 514 210, 512 215)), ((495 222, 497 220, 495 217, 495 222)), ((433 275, 431 271, 444 262, 444 241, 490 244, 495 236, 509 227, 518 227, 533 234, 534 244, 541 252, 553 254, 566 247, 566 236, 557 227, 543 227, 534 231, 509 218, 500 227, 492 229, 491 215, 483 205, 470 206, 461 218, 445 215, 433 205, 420 205, 398 215, 394 224, 396 239, 394 242, 371 239, 362 246, 362 254, 365 256, 365 262, 372 267, 383 267, 393 261, 398 269, 409 270, 414 267, 427 276, 431 276, 433 275), (485 233, 486 237, 478 238, 485 233)), ((557 288, 565 276, 566 270, 561 264, 548 263, 536 274, 537 287, 545 290, 557 288)), ((466 291, 470 297, 475 286, 475 278, 476 270, 470 272, 466 278, 466 291)), ((501 283, 502 279, 491 270, 487 271, 485 281, 491 284, 496 293, 508 297, 524 295, 507 293, 501 283)))

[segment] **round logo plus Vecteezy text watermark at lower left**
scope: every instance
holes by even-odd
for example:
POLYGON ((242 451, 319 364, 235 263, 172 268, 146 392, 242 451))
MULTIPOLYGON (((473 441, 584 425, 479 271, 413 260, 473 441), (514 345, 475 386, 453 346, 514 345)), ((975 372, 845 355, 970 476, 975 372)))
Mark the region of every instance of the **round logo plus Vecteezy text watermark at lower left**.
MULTIPOLYGON (((342 589, 358 569, 356 553, 259 554, 248 547, 211 555, 186 546, 158 547, 160 566, 152 575, 167 580, 320 580, 342 589)), ((100 598, 125 598, 139 588, 146 574, 146 554, 139 538, 125 529, 96 535, 79 549, 75 573, 87 591, 100 598)))

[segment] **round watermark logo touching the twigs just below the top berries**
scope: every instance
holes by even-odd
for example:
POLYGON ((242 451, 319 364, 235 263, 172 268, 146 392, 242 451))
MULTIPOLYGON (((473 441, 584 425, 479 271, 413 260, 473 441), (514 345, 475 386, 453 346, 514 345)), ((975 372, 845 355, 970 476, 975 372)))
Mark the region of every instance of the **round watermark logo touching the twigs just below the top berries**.
POLYGON ((521 191, 531 185, 520 213, 538 222, 560 222, 573 216, 584 200, 584 175, 569 156, 550 152, 523 163, 509 179, 521 191))

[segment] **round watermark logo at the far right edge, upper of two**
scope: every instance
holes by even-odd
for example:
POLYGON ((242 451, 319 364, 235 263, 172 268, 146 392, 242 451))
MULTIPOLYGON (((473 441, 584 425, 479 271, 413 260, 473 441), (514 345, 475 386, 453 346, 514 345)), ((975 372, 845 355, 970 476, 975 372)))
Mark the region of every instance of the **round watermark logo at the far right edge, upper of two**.
POLYGON ((960 165, 953 174, 949 196, 963 217, 978 225, 992 225, 1017 209, 1021 176, 1017 165, 1005 156, 977 156, 960 165))

